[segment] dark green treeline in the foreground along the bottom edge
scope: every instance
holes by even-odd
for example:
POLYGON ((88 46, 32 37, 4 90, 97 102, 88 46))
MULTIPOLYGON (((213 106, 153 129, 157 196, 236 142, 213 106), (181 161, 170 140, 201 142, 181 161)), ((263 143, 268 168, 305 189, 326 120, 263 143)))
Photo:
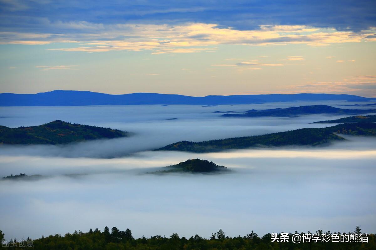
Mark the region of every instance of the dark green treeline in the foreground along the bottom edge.
MULTIPOLYGON (((360 228, 357 227, 354 233, 359 233, 360 228)), ((297 232, 295 232, 297 233, 297 232)), ((350 232, 349 232, 350 233, 350 232)), ((311 232, 308 232, 311 234, 311 232)), ((325 234, 322 230, 318 230, 315 235, 325 234)), ((331 234, 331 232, 326 232, 331 234)), ((340 234, 340 233, 338 233, 340 234)), ((199 235, 192 236, 187 239, 185 237, 179 237, 177 233, 173 233, 169 237, 166 236, 152 236, 151 238, 138 238, 135 239, 132 236, 132 232, 127 229, 120 231, 116 227, 111 229, 105 227, 103 232, 99 229, 92 230, 83 233, 81 231, 74 233, 67 233, 64 236, 50 235, 40 239, 32 241, 32 249, 61 249, 61 250, 215 250, 215 249, 228 249, 228 250, 356 250, 376 249, 375 235, 368 235, 368 242, 301 242, 299 244, 291 242, 291 236, 289 234, 289 242, 271 242, 272 234, 267 233, 262 237, 259 237, 257 233, 253 231, 246 236, 228 237, 220 229, 216 233, 212 233, 209 239, 200 237, 199 235)), ((300 233, 303 236, 303 233, 300 233)), ((0 239, 2 237, 0 231, 0 239)), ((14 239, 12 239, 14 241, 14 239)), ((29 242, 30 243, 30 242, 29 242)), ((3 245, 3 247, 6 247, 3 245)), ((9 243, 9 248, 12 249, 25 249, 27 246, 12 246, 9 243)))

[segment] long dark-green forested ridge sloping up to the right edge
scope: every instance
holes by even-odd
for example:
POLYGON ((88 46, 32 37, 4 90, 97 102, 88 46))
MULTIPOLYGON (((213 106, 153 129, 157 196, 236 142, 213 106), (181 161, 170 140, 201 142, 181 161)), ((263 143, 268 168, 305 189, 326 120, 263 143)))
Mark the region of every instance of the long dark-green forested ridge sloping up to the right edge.
POLYGON ((206 142, 181 141, 156 150, 191 152, 216 152, 228 149, 246 149, 256 146, 322 145, 344 140, 337 134, 376 136, 376 123, 344 123, 326 128, 301 128, 293 131, 265 134, 262 136, 235 137, 206 142))

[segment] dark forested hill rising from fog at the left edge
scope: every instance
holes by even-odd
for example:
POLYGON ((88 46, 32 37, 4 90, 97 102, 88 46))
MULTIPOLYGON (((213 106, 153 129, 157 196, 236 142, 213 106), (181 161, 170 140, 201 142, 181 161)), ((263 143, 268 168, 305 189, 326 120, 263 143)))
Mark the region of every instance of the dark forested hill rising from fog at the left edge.
POLYGON ((62 144, 127 136, 127 132, 55 120, 44 125, 8 128, 0 126, 0 143, 62 144))

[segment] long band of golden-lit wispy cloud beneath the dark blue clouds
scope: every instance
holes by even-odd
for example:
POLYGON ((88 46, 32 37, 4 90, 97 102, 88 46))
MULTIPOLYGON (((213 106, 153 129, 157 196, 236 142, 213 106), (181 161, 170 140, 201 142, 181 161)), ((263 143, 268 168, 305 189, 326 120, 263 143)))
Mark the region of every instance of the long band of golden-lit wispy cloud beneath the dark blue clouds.
MULTIPOLYGON (((110 50, 152 50, 152 54, 211 52, 205 48, 220 44, 252 46, 306 44, 325 46, 334 43, 374 41, 372 30, 362 32, 317 29, 309 26, 259 26, 255 30, 221 28, 217 24, 186 23, 169 26, 154 24, 95 24, 56 22, 52 27, 86 27, 85 33, 17 33, 1 32, 0 44, 49 44, 82 42, 78 47, 52 50, 105 52, 110 50)), ((291 57, 287 60, 302 60, 291 57)))

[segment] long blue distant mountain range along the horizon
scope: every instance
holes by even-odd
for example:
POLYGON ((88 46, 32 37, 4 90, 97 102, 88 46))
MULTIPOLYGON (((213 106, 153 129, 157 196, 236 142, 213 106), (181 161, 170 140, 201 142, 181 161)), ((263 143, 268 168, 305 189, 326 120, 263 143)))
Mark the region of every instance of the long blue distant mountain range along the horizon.
POLYGON ((0 106, 87 106, 87 105, 142 105, 142 104, 188 104, 226 105, 256 104, 265 102, 295 101, 373 101, 356 95, 333 94, 271 94, 271 95, 208 95, 194 97, 158 93, 132 93, 110 95, 90 91, 54 90, 37 94, 0 93, 0 106))

